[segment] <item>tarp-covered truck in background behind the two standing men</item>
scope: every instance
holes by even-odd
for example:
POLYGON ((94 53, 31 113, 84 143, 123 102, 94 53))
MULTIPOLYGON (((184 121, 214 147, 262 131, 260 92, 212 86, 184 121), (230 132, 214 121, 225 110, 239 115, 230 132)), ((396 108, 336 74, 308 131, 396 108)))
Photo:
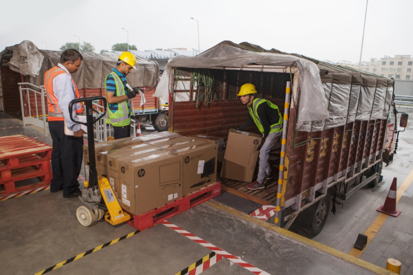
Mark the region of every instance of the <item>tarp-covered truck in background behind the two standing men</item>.
MULTIPOLYGON (((105 96, 104 80, 107 74, 112 72, 112 68, 116 67, 118 56, 85 52, 81 54, 84 58, 81 69, 73 74, 80 96, 105 96)), ((6 47, 0 52, 2 111, 23 119, 25 124, 34 124, 46 129, 47 119, 43 121, 43 111, 47 117, 47 98, 43 89, 43 79, 45 72, 59 63, 60 56, 60 51, 39 50, 31 41, 6 47)), ((127 80, 131 87, 140 87, 144 91, 146 102, 140 106, 140 96, 131 100, 134 113, 132 118, 142 125, 153 125, 157 131, 166 131, 168 102, 152 97, 159 82, 159 65, 156 61, 138 56, 136 58, 136 69, 132 70, 127 80)), ((95 102, 97 105, 101 103, 95 102)), ((103 111, 102 108, 98 110, 103 111)), ((45 132, 47 133, 47 129, 45 132)))

